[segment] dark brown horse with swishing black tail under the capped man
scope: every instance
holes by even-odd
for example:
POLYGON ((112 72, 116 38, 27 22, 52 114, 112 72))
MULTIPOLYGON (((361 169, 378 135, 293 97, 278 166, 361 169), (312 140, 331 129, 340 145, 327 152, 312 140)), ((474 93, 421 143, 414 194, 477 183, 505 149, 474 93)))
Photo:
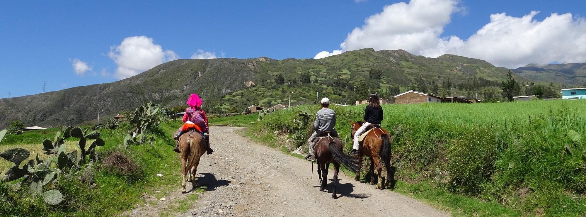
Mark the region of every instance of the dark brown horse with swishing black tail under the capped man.
MULTIPOLYGON (((322 133, 329 133, 324 132, 322 133)), ((329 164, 333 163, 334 174, 333 174, 333 191, 332 198, 336 199, 336 184, 338 183, 338 172, 340 171, 340 164, 343 164, 346 168, 352 172, 360 170, 358 164, 358 158, 345 155, 342 152, 342 141, 339 138, 331 137, 327 134, 327 137, 320 137, 318 142, 315 144, 315 160, 318 163, 318 177, 319 177, 319 191, 323 191, 328 183, 328 168, 329 164), (322 176, 323 174, 323 176, 322 176)))

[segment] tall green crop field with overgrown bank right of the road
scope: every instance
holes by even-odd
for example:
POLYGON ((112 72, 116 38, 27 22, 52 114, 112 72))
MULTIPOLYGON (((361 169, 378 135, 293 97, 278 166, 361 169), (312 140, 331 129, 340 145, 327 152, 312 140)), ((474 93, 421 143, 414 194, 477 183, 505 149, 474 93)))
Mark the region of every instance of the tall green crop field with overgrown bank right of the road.
MULTIPOLYGON (((267 134, 277 131, 305 145, 319 108, 269 114, 253 132, 271 138, 267 134), (308 121, 298 115, 304 110, 308 121)), ((350 120, 362 120, 364 107, 332 108, 340 139, 351 150, 350 120)), ((586 213, 586 100, 393 104, 383 110, 396 179, 429 182, 524 215, 586 213)))

